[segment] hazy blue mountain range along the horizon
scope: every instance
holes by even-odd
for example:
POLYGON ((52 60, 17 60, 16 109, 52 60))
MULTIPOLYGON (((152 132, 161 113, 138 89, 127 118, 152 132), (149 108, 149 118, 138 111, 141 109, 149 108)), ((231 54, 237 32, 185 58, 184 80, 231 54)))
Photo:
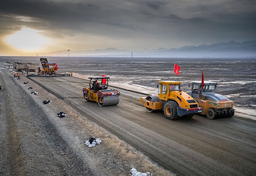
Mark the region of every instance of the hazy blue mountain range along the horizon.
MULTIPOLYGON (((104 50, 69 51, 70 56, 103 56, 103 57, 256 57, 256 40, 245 42, 221 42, 211 45, 184 46, 181 48, 144 49, 140 51, 107 48, 104 50)), ((60 50, 44 55, 67 56, 67 50, 60 50)))

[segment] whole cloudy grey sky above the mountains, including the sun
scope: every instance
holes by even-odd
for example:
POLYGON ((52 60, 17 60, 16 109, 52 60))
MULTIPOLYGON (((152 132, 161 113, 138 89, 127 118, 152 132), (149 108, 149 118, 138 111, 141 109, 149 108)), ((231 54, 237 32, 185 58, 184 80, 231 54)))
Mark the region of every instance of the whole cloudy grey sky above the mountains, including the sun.
POLYGON ((256 40, 255 0, 2 0, 0 55, 256 40))

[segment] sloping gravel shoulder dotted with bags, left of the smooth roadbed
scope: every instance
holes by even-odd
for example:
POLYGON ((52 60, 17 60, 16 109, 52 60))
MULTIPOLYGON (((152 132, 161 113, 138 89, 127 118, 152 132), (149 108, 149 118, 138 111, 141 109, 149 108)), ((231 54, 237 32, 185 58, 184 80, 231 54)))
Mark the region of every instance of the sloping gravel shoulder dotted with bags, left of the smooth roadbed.
POLYGON ((174 175, 25 76, 17 80, 3 71, 0 83, 0 175, 121 176, 131 175, 131 168, 174 175), (52 102, 43 104, 47 99, 52 102), (90 137, 102 143, 89 148, 84 142, 90 137))

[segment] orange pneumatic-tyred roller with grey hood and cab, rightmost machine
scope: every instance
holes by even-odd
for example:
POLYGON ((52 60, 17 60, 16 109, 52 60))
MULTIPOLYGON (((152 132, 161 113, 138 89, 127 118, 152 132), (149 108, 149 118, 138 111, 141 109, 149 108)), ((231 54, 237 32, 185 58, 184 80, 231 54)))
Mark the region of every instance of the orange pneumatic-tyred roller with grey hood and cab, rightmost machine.
POLYGON ((234 102, 216 93, 217 83, 205 81, 204 86, 199 81, 192 82, 191 91, 186 92, 194 98, 202 108, 201 114, 208 119, 226 118, 234 115, 234 102))

